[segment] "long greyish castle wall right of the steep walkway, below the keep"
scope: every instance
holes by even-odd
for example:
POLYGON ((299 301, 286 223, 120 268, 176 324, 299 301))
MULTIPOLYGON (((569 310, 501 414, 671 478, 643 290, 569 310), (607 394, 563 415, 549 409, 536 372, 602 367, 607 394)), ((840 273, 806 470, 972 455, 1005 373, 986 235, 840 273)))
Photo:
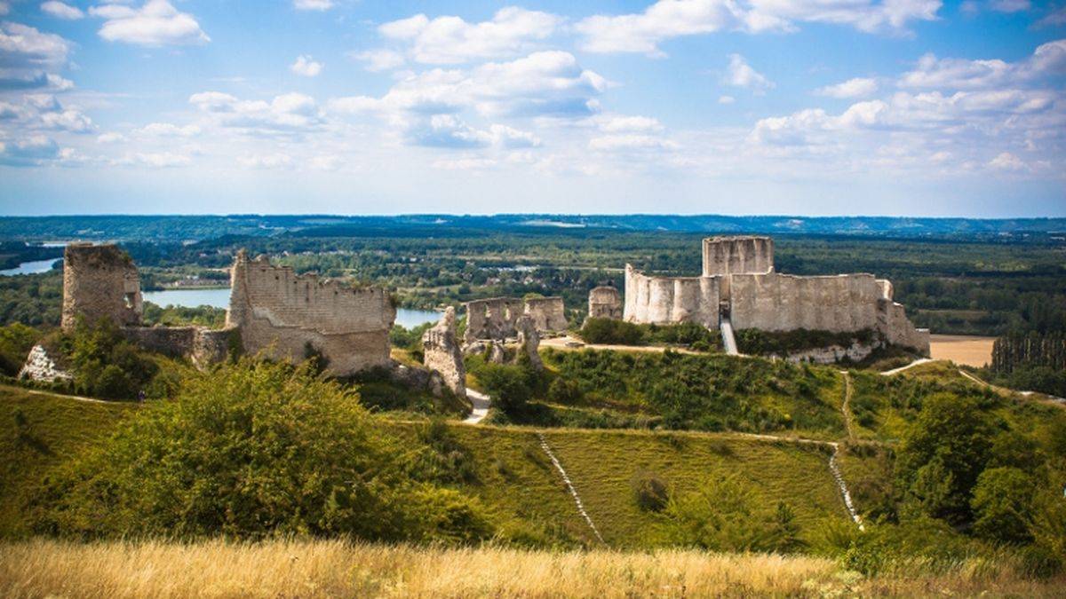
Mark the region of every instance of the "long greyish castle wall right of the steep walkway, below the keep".
POLYGON ((873 275, 868 274, 732 275, 729 313, 737 330, 873 329, 877 326, 879 296, 873 275))

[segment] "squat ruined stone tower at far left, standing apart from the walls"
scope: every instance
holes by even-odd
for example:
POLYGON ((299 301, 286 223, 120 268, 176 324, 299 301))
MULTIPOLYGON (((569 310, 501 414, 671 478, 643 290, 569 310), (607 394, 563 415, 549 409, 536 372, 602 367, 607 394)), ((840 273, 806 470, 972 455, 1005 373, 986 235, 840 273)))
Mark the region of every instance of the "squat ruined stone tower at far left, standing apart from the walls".
POLYGON ((78 318, 111 319, 118 326, 141 324, 141 279, 128 254, 114 244, 71 243, 63 253, 63 330, 78 318))

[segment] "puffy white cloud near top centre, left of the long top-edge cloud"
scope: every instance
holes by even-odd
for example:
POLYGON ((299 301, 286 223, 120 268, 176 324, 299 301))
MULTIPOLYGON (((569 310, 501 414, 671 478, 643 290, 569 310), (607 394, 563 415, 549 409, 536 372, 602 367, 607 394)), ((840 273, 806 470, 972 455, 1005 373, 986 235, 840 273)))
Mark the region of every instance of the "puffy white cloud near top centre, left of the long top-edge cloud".
POLYGON ((385 37, 409 45, 416 62, 457 64, 513 55, 554 32, 561 19, 548 13, 507 6, 491 20, 470 23, 459 17, 430 19, 419 14, 382 25, 385 37))

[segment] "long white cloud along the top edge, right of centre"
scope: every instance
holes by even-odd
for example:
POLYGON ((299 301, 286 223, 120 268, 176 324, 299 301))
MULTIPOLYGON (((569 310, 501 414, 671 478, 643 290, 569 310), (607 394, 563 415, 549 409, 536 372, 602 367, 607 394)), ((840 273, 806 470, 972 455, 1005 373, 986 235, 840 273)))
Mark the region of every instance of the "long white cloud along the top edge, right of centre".
POLYGON ((796 22, 826 22, 859 31, 902 31, 934 20, 940 0, 659 0, 643 13, 596 15, 575 29, 591 52, 663 55, 659 44, 683 35, 739 30, 791 31, 796 22))

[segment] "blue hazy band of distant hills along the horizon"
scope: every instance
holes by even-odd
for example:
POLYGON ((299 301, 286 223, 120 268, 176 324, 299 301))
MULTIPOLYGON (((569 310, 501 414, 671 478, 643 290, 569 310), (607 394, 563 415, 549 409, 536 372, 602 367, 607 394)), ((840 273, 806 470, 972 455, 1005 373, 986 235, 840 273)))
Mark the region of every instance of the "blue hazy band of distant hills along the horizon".
POLYGON ((91 215, 0 217, 0 240, 117 240, 191 242, 223 236, 346 237, 388 231, 391 236, 455 234, 463 230, 676 231, 882 238, 1017 238, 1066 236, 1066 218, 927 218, 909 216, 727 216, 671 214, 408 214, 400 216, 316 215, 91 215), (1061 236, 1060 236, 1061 233, 1061 236))

